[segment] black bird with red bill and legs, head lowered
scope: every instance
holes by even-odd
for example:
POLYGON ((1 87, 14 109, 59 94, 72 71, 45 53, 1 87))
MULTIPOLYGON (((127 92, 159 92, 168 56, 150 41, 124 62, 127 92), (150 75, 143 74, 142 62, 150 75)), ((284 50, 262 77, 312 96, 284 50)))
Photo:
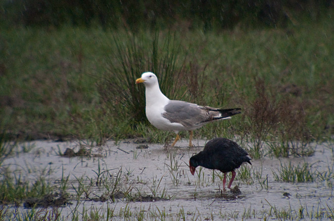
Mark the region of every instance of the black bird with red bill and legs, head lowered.
POLYGON ((236 142, 226 138, 215 138, 206 143, 203 151, 193 155, 189 160, 190 172, 192 175, 198 166, 212 170, 220 170, 224 173, 223 189, 225 190, 226 173, 232 172, 232 177, 228 188, 231 188, 232 182, 236 177, 235 169, 242 163, 250 163, 251 158, 246 150, 239 147, 236 142))

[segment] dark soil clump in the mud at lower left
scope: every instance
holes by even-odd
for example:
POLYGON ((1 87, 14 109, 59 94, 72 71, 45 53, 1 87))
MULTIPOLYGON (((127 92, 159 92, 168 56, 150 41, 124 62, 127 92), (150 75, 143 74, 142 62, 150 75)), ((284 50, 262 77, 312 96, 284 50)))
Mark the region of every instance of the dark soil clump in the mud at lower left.
POLYGON ((54 193, 45 195, 43 198, 32 197, 26 199, 23 206, 26 209, 33 207, 63 207, 66 205, 72 205, 67 198, 67 194, 54 193))

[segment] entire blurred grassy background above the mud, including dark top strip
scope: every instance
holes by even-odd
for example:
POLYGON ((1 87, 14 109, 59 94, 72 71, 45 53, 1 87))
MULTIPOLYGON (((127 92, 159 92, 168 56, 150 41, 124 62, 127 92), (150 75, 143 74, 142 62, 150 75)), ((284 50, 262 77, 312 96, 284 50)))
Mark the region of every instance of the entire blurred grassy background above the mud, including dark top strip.
POLYGON ((332 139, 332 0, 0 4, 5 140, 168 141, 144 117, 143 85, 131 86, 146 71, 172 77, 160 82, 171 98, 242 108, 197 137, 239 135, 255 152, 266 141, 332 139))

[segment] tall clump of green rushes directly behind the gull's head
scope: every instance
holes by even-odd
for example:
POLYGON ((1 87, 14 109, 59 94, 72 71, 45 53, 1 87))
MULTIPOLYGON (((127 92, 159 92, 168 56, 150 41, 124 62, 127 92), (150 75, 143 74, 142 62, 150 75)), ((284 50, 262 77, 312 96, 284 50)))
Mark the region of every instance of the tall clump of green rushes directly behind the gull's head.
POLYGON ((179 57, 182 48, 175 36, 168 33, 161 38, 159 32, 153 37, 128 32, 126 37, 113 37, 116 50, 109 54, 108 70, 98 83, 98 92, 114 117, 127 119, 130 124, 145 121, 144 87, 135 84, 143 72, 157 75, 167 97, 174 99, 180 93, 186 57, 179 57))

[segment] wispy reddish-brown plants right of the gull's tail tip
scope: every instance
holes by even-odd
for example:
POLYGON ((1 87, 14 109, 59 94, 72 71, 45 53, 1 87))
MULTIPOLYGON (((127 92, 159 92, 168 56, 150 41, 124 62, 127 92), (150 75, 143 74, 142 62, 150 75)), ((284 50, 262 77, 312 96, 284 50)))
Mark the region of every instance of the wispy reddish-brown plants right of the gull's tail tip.
POLYGON ((268 148, 277 157, 312 155, 314 150, 307 145, 314 136, 307 126, 302 101, 268 89, 262 78, 256 80, 255 88, 256 97, 245 104, 249 108, 243 115, 242 137, 252 143, 251 156, 261 158, 268 148))

